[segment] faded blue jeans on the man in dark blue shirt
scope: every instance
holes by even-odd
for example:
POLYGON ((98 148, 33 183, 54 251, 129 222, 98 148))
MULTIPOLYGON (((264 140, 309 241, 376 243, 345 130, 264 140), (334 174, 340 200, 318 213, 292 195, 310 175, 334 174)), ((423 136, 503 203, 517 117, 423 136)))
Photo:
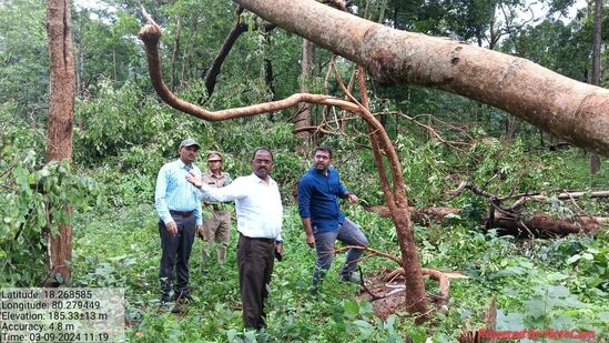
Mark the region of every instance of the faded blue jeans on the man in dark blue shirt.
MULTIPOLYGON (((368 245, 368 240, 362 230, 359 230, 359 226, 347 218, 345 218, 345 222, 342 225, 338 225, 338 230, 336 231, 318 232, 317 228, 313 228, 313 236, 315 238, 315 251, 317 252, 317 261, 313 270, 312 283, 314 287, 323 281, 327 270, 332 265, 334 242, 336 240, 347 245, 368 245)), ((351 278, 363 253, 364 250, 362 249, 349 249, 347 251, 345 264, 338 272, 341 278, 351 278)))

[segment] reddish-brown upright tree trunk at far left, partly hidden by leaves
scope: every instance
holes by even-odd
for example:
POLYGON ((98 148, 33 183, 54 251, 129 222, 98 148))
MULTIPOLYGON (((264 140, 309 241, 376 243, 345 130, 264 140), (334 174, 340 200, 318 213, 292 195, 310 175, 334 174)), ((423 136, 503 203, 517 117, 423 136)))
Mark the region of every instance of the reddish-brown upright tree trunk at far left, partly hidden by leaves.
MULTIPOLYGON (((47 1, 51 75, 47 162, 72 158, 75 74, 70 9, 70 0, 47 1)), ((70 218, 72 214, 70 205, 64 203, 62 206, 70 218)), ((69 283, 71 278, 69 262, 72 259, 72 228, 69 224, 60 223, 59 234, 48 232, 48 253, 49 279, 44 281, 45 285, 69 283)))

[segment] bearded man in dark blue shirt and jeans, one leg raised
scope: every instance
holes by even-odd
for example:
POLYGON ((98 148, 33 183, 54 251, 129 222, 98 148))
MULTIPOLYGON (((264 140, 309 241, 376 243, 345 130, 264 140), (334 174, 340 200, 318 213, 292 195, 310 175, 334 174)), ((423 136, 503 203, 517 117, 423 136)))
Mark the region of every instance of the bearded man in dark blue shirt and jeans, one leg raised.
MULTIPOLYGON (((338 171, 329 167, 332 150, 327 147, 315 149, 314 165, 298 182, 298 210, 306 232, 306 243, 314 248, 317 261, 313 270, 312 292, 324 279, 334 256, 334 242, 347 245, 368 245, 368 240, 359 226, 341 213, 338 198, 357 202, 357 195, 347 191, 341 182, 338 171)), ((361 249, 349 249, 339 275, 343 281, 359 282, 354 274, 363 254, 361 249)))

